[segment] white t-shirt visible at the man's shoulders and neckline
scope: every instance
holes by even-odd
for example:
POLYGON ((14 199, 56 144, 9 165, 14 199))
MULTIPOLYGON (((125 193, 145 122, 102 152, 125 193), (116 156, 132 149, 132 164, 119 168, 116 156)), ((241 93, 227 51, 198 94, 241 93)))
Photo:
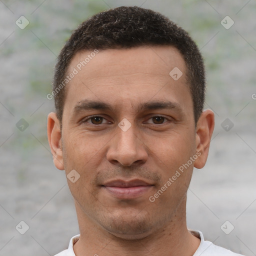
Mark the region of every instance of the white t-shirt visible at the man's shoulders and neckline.
MULTIPOLYGON (((243 256, 241 254, 234 253, 231 250, 214 245, 210 241, 204 241, 203 234, 199 230, 190 230, 190 232, 192 232, 201 240, 200 245, 193 254, 193 256, 243 256)), ((75 256, 73 245, 75 244, 75 242, 77 242, 79 236, 79 234, 73 236, 69 241, 68 248, 54 256, 75 256)))

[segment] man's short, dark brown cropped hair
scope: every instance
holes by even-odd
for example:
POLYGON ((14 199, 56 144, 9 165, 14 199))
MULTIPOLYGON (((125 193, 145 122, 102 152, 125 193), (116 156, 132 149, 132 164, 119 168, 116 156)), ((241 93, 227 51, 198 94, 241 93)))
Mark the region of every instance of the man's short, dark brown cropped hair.
MULTIPOLYGON (((188 33, 168 17, 137 6, 121 6, 99 12, 73 30, 57 57, 53 91, 65 79, 70 60, 76 52, 142 45, 172 45, 179 50, 186 64, 196 123, 205 98, 205 71, 199 49, 188 33)), ((53 94, 60 123, 65 101, 65 87, 61 87, 53 94)))

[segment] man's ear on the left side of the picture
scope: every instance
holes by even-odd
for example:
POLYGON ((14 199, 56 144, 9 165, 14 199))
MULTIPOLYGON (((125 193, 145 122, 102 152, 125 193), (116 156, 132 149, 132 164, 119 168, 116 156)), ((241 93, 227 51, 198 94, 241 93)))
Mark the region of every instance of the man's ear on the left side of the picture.
POLYGON ((47 118, 47 136, 50 150, 53 156, 53 162, 56 168, 63 170, 63 151, 61 142, 61 132, 59 120, 56 113, 49 113, 47 118))

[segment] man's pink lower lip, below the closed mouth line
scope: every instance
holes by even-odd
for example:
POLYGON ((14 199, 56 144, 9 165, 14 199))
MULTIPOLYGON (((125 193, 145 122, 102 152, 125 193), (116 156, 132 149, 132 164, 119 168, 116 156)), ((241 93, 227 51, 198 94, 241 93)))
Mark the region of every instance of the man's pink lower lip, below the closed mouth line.
POLYGON ((151 187, 152 185, 132 187, 104 186, 108 192, 119 199, 132 199, 139 197, 146 193, 151 187))

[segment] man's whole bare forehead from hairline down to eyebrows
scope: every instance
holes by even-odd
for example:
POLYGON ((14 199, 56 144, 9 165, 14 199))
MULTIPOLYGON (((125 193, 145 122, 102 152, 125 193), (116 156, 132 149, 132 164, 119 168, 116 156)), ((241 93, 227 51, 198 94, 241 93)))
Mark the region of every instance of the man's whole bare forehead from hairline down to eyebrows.
POLYGON ((115 104, 117 108, 118 104, 130 101, 130 106, 152 97, 191 101, 185 62, 173 46, 80 51, 72 58, 67 74, 73 71, 75 75, 65 88, 64 107, 74 107, 88 98, 115 104))

